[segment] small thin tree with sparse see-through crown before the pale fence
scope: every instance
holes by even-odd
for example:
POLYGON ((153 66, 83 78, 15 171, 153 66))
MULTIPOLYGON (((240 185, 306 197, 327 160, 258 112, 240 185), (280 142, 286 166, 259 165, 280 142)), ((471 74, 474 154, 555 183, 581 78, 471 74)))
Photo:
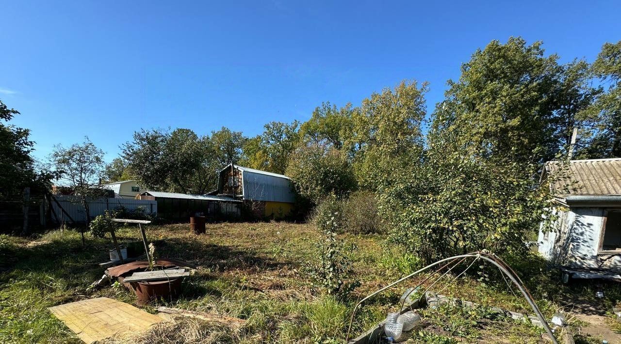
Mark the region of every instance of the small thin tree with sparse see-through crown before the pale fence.
POLYGON ((91 222, 88 200, 105 195, 99 185, 99 178, 105 166, 104 151, 85 137, 83 143, 72 144, 68 148, 60 144, 54 146, 50 161, 61 173, 60 179, 79 196, 88 225, 91 222))

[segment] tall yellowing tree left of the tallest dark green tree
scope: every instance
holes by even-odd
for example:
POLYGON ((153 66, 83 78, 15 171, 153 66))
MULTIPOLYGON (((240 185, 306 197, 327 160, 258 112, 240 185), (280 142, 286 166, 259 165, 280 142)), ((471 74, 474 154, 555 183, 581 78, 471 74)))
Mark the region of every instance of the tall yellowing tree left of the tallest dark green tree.
POLYGON ((420 159, 427 83, 402 81, 394 89, 373 93, 353 110, 348 148, 353 151, 356 180, 376 190, 391 183, 398 170, 420 159))

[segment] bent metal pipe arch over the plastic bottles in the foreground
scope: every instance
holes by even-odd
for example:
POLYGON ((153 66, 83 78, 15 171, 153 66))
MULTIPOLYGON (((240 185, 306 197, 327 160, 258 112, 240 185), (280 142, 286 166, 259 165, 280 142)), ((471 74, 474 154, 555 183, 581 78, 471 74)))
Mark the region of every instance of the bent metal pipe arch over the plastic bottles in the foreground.
POLYGON ((376 294, 379 294, 381 292, 383 292, 384 290, 391 288, 392 286, 401 283, 402 281, 408 280, 409 278, 412 278, 413 276, 421 273, 422 271, 425 271, 429 268, 435 267, 436 265, 440 265, 441 263, 444 262, 448 262, 448 261, 453 261, 453 260, 457 260, 460 258, 480 258, 483 260, 486 260, 487 262, 492 263, 494 266, 496 266, 498 268, 498 270, 500 270, 502 273, 504 273, 504 275, 506 275, 507 277, 509 277, 509 280, 511 280, 515 286, 517 286, 518 289, 520 289, 520 292, 522 293, 522 295, 524 296, 524 298, 526 299, 526 301, 528 302, 528 304, 530 305, 530 307, 533 309, 533 312, 535 312, 535 315, 537 315, 537 319, 539 319, 539 321, 542 323, 543 325, 543 329, 545 329, 545 331, 548 333, 548 336, 550 336, 550 340, 552 341, 552 343, 554 344, 558 344, 558 341, 556 340, 556 337, 554 337, 554 333, 552 333, 552 330, 550 329, 550 325, 548 325, 548 322, 545 320, 545 318, 543 317, 542 312, 539 310, 539 307, 537 307, 537 304, 535 304, 535 301, 532 299, 532 296, 530 295, 530 293, 528 293, 528 290, 522 285, 522 281, 520 280, 519 276, 517 276, 517 274, 515 274, 515 271, 513 271, 508 265, 507 263, 503 262, 501 260, 501 258, 498 257, 494 257, 492 255, 486 254, 484 252, 473 252, 471 254, 463 254, 463 255, 455 255, 453 257, 448 257, 448 258, 444 258, 442 260, 438 260, 435 263, 432 263, 430 265, 427 265, 426 267, 414 271, 413 273, 410 273, 410 275, 407 275, 397 281, 392 282, 391 284, 388 284, 387 286, 385 286, 384 288, 379 289, 378 291, 375 291, 374 293, 369 294, 368 296, 366 296, 365 298, 361 299, 360 301, 358 301, 358 303, 356 303, 356 306, 353 308, 353 311, 351 312, 351 319, 350 319, 350 323, 349 326, 347 327, 347 337, 346 337, 346 341, 350 340, 350 332, 351 332, 351 325, 353 324, 353 319, 356 315, 356 311, 358 310, 358 307, 360 307, 360 305, 365 302, 366 300, 368 300, 369 298, 372 298, 373 296, 375 296, 376 294))

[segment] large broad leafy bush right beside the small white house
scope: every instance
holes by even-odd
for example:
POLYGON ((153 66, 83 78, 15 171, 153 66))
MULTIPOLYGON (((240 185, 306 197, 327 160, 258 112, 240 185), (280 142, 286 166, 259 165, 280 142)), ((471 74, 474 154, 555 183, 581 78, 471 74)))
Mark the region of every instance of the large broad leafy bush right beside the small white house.
POLYGON ((532 164, 432 151, 386 190, 380 209, 391 239, 427 263, 483 249, 525 255, 552 200, 535 175, 532 164))

